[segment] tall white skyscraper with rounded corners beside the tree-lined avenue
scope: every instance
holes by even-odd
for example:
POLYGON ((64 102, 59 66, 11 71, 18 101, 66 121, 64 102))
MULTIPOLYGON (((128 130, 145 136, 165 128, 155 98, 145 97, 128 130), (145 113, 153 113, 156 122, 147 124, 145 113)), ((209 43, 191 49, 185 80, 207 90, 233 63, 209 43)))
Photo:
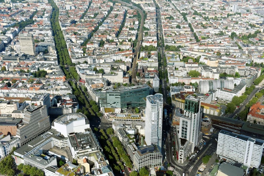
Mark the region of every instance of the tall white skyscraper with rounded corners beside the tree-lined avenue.
POLYGON ((163 95, 147 96, 145 142, 147 145, 157 145, 161 151, 162 139, 163 95))

